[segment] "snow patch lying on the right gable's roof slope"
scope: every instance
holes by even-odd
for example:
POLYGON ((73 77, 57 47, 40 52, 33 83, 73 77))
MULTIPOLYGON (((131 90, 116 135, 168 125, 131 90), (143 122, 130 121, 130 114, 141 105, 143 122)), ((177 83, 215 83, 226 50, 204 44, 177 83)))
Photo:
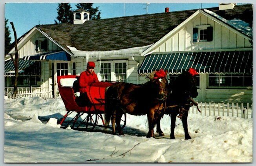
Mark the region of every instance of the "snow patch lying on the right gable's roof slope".
POLYGON ((203 9, 206 13, 211 14, 212 16, 218 18, 222 22, 227 23, 228 25, 232 26, 233 28, 237 29, 238 31, 242 32, 243 34, 252 38, 252 28, 249 27, 249 23, 244 22, 243 20, 234 18, 232 20, 226 20, 225 18, 219 16, 218 14, 209 11, 207 9, 203 9))

